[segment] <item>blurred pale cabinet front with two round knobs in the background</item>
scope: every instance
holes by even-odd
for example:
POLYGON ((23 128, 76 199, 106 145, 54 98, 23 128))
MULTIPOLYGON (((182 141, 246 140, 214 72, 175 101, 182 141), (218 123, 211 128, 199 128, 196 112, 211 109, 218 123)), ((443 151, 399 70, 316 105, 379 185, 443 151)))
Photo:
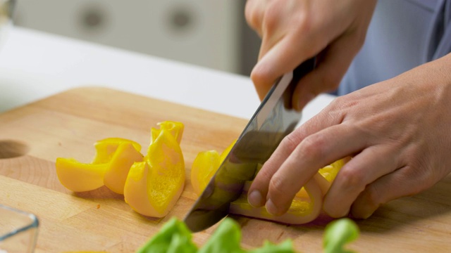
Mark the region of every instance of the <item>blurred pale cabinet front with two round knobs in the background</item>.
POLYGON ((15 25, 249 75, 245 0, 18 0, 15 25))

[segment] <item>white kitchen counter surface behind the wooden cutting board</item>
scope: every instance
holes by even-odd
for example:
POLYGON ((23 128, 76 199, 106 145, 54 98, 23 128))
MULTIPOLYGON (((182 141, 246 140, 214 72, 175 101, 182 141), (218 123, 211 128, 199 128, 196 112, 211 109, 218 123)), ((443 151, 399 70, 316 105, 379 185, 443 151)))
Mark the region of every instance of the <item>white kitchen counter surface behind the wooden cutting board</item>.
MULTIPOLYGON (((249 119, 249 77, 13 27, 0 48, 0 112, 78 86, 105 86, 249 119)), ((333 100, 321 95, 304 119, 333 100)))

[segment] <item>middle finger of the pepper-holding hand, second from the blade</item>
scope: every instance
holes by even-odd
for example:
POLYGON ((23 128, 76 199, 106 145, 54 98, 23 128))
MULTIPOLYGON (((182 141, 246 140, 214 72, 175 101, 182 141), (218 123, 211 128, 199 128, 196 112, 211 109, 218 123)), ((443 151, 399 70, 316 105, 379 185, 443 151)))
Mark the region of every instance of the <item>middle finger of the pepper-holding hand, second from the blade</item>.
POLYGON ((365 134, 349 124, 330 126, 304 138, 271 178, 266 209, 273 215, 284 214, 295 194, 320 168, 366 145, 365 134))

